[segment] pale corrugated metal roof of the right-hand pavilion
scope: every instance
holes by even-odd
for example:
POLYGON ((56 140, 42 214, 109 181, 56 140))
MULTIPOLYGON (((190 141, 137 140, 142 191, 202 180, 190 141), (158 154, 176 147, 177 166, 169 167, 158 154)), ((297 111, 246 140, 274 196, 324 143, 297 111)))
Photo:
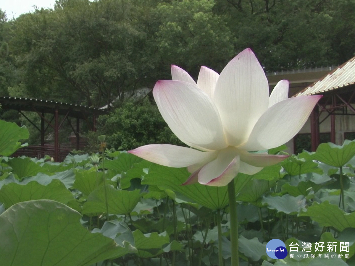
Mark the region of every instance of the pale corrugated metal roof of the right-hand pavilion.
POLYGON ((335 68, 326 77, 308 86, 297 96, 315 95, 355 83, 355 57, 335 68))

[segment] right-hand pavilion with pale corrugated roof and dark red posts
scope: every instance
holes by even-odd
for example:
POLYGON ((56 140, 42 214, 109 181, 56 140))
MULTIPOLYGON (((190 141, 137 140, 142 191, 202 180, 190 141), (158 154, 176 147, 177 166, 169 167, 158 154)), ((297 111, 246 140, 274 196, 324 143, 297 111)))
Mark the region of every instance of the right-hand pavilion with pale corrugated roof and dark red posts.
POLYGON ((331 142, 335 143, 335 116, 355 115, 355 57, 302 90, 297 96, 320 94, 323 98, 315 106, 310 117, 312 151, 316 151, 320 144, 320 123, 330 117, 331 142), (323 112, 327 115, 320 121, 323 112))

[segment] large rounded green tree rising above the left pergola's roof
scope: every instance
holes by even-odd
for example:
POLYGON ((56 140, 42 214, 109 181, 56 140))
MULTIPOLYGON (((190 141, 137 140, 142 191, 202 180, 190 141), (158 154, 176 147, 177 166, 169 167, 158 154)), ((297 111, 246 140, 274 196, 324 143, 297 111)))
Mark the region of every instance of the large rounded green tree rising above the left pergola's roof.
POLYGON ((150 63, 130 12, 125 0, 60 0, 20 16, 11 45, 29 94, 98 107, 139 88, 150 63))

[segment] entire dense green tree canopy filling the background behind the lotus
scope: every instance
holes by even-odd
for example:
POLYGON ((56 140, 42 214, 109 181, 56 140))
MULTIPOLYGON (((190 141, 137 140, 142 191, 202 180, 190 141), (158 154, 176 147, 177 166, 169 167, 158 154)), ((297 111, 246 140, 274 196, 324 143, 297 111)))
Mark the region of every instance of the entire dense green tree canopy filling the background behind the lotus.
POLYGON ((11 20, 0 10, 0 93, 120 106, 170 79, 171 64, 196 79, 247 47, 265 71, 339 65, 355 54, 354 12, 355 0, 58 0, 11 20))

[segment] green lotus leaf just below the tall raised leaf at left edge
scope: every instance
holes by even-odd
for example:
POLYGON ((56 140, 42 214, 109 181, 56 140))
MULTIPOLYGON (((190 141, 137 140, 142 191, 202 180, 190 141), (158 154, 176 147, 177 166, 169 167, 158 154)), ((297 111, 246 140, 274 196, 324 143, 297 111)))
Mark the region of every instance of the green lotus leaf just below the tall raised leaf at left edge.
POLYGON ((33 162, 31 158, 12 158, 9 160, 9 165, 12 167, 12 172, 22 179, 23 177, 35 176, 38 173, 48 173, 48 170, 40 167, 33 162))

